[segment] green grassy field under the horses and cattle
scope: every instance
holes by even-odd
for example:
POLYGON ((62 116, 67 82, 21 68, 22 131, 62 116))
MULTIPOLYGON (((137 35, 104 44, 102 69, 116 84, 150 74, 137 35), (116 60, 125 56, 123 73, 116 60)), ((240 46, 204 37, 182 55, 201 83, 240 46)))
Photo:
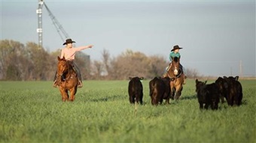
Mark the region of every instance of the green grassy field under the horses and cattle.
POLYGON ((84 81, 72 103, 52 82, 0 82, 0 142, 256 142, 255 80, 239 80, 242 106, 217 111, 199 109, 187 79, 181 100, 160 106, 151 106, 144 80, 135 112, 128 82, 84 81))

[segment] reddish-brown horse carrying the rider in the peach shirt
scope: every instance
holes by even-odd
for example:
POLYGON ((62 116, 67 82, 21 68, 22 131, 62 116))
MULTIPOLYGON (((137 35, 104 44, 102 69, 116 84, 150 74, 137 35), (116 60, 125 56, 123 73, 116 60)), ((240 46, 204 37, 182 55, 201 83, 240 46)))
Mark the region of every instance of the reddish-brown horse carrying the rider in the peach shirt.
POLYGON ((78 76, 72 67, 70 61, 65 58, 59 58, 57 64, 57 85, 62 95, 62 101, 74 101, 75 94, 78 90, 78 76), (70 92, 70 96, 69 96, 70 92))

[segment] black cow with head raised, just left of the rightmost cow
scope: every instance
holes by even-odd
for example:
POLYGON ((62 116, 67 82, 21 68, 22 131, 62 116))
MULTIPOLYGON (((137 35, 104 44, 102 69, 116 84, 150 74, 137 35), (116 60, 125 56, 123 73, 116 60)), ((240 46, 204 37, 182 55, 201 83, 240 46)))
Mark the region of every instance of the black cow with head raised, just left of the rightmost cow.
POLYGON ((200 82, 196 79, 197 100, 200 104, 200 109, 208 109, 211 106, 212 110, 218 109, 220 92, 215 83, 206 85, 206 82, 200 82))

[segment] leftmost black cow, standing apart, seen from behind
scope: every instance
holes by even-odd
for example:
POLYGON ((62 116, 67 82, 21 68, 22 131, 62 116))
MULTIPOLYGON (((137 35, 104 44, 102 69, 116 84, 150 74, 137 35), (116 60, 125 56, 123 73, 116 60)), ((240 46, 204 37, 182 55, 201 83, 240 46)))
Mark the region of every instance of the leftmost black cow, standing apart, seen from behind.
POLYGON ((143 86, 141 80, 143 77, 129 77, 130 82, 128 86, 128 93, 130 97, 130 103, 141 103, 143 98, 143 86))

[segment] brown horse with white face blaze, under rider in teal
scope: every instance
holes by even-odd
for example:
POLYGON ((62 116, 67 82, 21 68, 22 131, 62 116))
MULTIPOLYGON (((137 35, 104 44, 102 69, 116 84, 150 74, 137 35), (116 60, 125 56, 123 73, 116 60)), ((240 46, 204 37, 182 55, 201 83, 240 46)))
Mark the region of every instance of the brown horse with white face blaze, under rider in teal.
POLYGON ((169 76, 170 88, 171 88, 171 98, 172 100, 178 100, 181 97, 181 91, 183 89, 184 83, 184 73, 180 69, 179 66, 179 58, 175 57, 172 60, 172 63, 169 65, 170 67, 167 70, 166 76, 169 76))

